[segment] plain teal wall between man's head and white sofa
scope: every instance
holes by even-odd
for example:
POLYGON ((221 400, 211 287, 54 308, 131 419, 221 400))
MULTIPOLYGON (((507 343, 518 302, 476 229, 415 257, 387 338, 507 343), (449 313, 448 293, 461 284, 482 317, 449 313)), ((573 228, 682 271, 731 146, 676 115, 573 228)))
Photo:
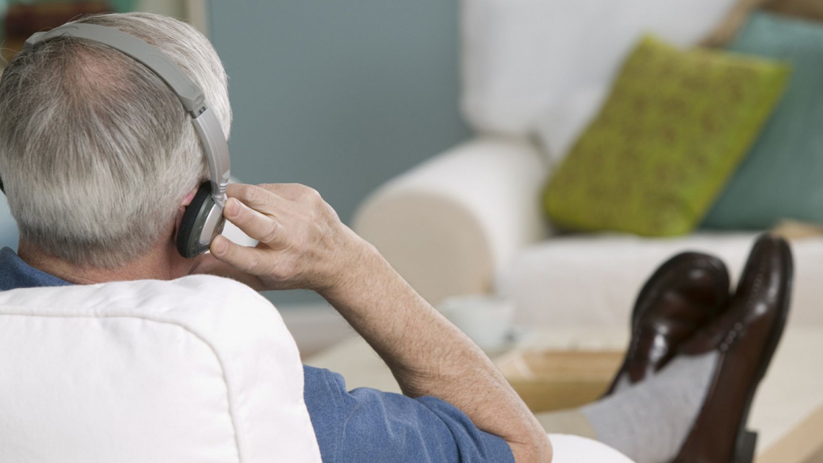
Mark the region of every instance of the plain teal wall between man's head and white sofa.
MULTIPOLYGON (((350 222, 366 194, 467 138, 457 0, 214 0, 232 173, 318 189, 350 222)), ((277 293, 275 302, 308 302, 277 293)))

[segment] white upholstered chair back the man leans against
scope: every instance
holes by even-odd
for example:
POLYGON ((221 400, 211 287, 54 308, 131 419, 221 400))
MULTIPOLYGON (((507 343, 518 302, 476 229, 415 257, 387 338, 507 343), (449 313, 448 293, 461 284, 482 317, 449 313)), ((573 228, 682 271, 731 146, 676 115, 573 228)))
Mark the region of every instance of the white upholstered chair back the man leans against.
POLYGON ((294 339, 229 279, 0 292, 0 372, 0 461, 320 461, 294 339))

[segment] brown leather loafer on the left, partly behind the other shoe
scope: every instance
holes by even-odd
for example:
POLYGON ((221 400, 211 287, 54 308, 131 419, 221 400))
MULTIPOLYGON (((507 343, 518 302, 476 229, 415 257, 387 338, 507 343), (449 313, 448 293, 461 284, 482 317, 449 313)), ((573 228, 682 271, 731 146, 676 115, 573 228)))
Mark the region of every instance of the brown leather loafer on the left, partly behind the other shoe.
POLYGON ((606 395, 624 374, 634 384, 663 368, 681 342, 725 309, 728 289, 728 270, 714 256, 686 252, 661 265, 637 297, 629 348, 606 395))

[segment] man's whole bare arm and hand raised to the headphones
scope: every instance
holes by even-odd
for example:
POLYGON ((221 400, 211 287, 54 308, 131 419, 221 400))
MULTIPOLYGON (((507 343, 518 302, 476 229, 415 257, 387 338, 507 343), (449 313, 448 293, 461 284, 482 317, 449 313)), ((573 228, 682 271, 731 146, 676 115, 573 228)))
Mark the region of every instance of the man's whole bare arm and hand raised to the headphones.
POLYGON ((319 292, 379 353, 404 394, 458 407, 477 428, 503 437, 518 463, 551 461, 546 433, 491 360, 316 191, 229 185, 228 194, 226 218, 260 244, 248 248, 218 237, 217 260, 253 275, 257 288, 319 292))

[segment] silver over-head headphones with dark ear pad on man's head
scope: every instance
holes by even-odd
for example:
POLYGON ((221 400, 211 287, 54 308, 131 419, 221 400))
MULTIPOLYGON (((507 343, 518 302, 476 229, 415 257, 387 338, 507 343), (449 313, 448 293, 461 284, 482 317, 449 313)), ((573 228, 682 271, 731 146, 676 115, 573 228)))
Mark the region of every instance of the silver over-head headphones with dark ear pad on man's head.
MULTIPOLYGON (((208 161, 209 181, 200 185, 191 204, 186 207, 177 233, 177 250, 184 257, 206 252, 215 236, 223 231, 226 220, 226 187, 229 185, 230 159, 226 135, 214 111, 205 104, 200 87, 159 49, 137 37, 106 26, 76 23, 60 26, 48 32, 38 32, 26 40, 26 49, 57 37, 94 40, 118 50, 143 63, 160 77, 183 104, 192 118, 208 161)), ((2 184, 0 184, 2 185, 2 184)))

